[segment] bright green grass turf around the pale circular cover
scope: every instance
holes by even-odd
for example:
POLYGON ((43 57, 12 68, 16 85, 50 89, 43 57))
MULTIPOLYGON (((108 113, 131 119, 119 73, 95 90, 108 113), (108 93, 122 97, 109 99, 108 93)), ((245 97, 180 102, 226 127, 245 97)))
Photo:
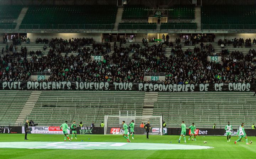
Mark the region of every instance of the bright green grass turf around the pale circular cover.
MULTIPOLYGON (((71 135, 70 135, 71 137, 71 135)), ((169 143, 178 144, 179 136, 164 135, 164 136, 149 136, 150 139, 146 140, 145 135, 134 135, 135 140, 132 142, 145 142, 145 143, 169 143)), ((197 136, 197 141, 188 141, 191 145, 210 146, 213 149, 202 150, 67 150, 67 149, 16 149, 16 148, 2 148, 0 149, 0 159, 60 159, 60 158, 91 158, 91 159, 169 159, 169 158, 183 158, 183 159, 251 159, 256 155, 256 143, 246 145, 245 142, 238 142, 236 136, 231 137, 231 142, 226 141, 226 136, 197 136), (207 141, 204 144, 203 141, 207 141)), ((24 141, 24 134, 1 134, 1 142, 17 142, 24 141)), ((39 135, 28 134, 28 141, 47 141, 59 142, 64 141, 63 135, 39 135)), ((256 137, 248 137, 248 141, 256 142, 256 137)), ((126 139, 121 135, 78 135, 77 142, 125 142, 126 139)), ((242 139, 245 141, 245 138, 242 139)), ((0 142, 0 144, 1 144, 0 142)), ((180 144, 185 144, 183 138, 180 144)))

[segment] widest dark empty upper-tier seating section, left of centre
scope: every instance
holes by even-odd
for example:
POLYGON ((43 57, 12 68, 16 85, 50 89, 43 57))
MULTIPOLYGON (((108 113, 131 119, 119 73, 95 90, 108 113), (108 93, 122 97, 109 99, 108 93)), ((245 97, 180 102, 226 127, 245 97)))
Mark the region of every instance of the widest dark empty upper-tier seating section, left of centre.
POLYGON ((20 29, 113 29, 116 6, 30 6, 20 29))

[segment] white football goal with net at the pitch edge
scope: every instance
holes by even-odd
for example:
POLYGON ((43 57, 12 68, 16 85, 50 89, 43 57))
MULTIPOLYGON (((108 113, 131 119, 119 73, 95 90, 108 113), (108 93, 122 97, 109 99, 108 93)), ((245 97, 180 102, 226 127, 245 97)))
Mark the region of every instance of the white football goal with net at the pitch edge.
MULTIPOLYGON (((130 122, 134 120, 134 134, 145 135, 146 131, 144 127, 141 126, 143 123, 148 123, 150 121, 151 129, 149 131, 150 135, 162 135, 162 116, 115 116, 115 115, 105 115, 105 135, 121 135, 123 134, 122 121, 125 121, 129 126, 130 122)), ((130 131, 130 130, 129 130, 130 131)))

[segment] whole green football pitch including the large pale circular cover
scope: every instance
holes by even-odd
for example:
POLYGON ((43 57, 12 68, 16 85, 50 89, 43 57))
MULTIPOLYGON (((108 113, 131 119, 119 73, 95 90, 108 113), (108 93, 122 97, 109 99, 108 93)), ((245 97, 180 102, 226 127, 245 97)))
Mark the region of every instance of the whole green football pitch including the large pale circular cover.
POLYGON ((236 136, 231 142, 226 136, 197 136, 197 141, 186 137, 187 143, 183 138, 178 143, 178 137, 151 135, 146 140, 144 135, 135 135, 127 143, 121 135, 78 135, 77 140, 63 142, 63 135, 28 134, 29 140, 24 141, 24 134, 1 134, 0 159, 251 159, 256 155, 256 137, 248 137, 253 141, 250 145, 244 138, 234 144, 236 136))

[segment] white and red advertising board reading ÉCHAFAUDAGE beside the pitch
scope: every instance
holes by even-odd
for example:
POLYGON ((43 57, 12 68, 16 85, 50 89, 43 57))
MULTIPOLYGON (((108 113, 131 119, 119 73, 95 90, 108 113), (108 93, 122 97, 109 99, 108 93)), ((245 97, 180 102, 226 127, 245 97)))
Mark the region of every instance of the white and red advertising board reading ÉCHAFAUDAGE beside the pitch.
MULTIPOLYGON (((63 134, 62 129, 59 126, 49 126, 49 127, 41 127, 41 126, 32 126, 29 127, 30 134, 63 134)), ((69 130, 68 130, 69 131, 69 130)), ((22 126, 22 134, 25 134, 24 126, 22 126)))

